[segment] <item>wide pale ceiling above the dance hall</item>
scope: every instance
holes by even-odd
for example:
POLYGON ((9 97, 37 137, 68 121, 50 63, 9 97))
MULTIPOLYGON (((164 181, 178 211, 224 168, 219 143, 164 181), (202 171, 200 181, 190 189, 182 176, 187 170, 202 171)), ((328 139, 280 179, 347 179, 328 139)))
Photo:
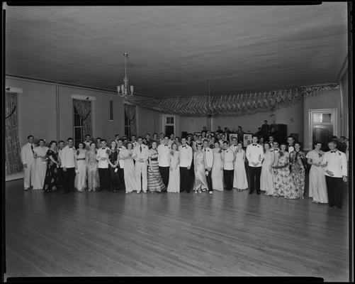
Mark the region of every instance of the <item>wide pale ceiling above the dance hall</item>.
POLYGON ((235 94, 335 82, 346 3, 6 6, 6 72, 137 94, 235 94))

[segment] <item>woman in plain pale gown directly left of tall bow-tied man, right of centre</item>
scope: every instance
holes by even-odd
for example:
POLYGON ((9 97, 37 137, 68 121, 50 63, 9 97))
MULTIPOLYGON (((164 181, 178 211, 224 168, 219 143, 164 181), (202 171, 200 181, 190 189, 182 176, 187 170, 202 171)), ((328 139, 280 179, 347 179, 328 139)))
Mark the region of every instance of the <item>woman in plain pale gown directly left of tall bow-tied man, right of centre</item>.
POLYGON ((237 151, 235 151, 233 188, 238 191, 247 190, 248 180, 247 172, 245 171, 245 151, 243 150, 242 142, 237 143, 237 151))

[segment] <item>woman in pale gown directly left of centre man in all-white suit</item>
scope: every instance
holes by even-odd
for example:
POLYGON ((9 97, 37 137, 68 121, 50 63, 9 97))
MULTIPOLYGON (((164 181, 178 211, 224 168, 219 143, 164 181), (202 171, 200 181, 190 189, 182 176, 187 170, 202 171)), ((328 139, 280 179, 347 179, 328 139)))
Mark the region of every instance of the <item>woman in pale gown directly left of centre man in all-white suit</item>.
MULTIPOLYGON (((153 142, 154 143, 154 142, 153 142)), ((156 143, 156 142, 155 142, 156 143)), ((133 144, 127 143, 127 149, 123 149, 121 158, 125 160, 123 174, 125 177, 125 193, 137 191, 137 184, 135 182, 135 163, 133 161, 133 144)))

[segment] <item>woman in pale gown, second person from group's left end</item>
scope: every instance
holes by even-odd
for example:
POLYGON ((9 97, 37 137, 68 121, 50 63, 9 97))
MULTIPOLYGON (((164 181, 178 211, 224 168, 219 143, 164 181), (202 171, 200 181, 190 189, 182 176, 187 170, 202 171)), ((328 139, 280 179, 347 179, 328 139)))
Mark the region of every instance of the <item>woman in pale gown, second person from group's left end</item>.
POLYGON ((45 141, 40 139, 38 147, 33 149, 33 157, 35 157, 35 173, 33 179, 33 190, 43 190, 45 184, 45 172, 47 170, 47 151, 45 141))

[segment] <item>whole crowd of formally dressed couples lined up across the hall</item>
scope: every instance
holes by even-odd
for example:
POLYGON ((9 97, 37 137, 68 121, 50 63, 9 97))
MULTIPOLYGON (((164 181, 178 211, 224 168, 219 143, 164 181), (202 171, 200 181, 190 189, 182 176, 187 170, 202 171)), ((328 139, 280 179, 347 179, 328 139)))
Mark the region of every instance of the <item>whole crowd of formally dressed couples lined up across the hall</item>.
MULTIPOLYGON (((261 129, 264 136, 265 129, 261 129)), ((288 136, 288 143, 279 144, 270 134, 266 142, 263 140, 256 133, 246 148, 237 137, 232 137, 230 144, 220 127, 213 134, 204 128, 199 135, 181 139, 164 133, 150 138, 147 133, 128 140, 117 134, 109 144, 101 138, 93 141, 88 134, 77 147, 73 138, 67 138, 67 145, 50 141, 47 146, 39 139, 35 146, 30 135, 21 148, 24 188, 209 194, 213 190, 249 189, 249 194, 265 192, 268 196, 303 199, 305 173, 310 167, 312 202, 342 207, 349 155, 337 149, 337 141, 329 141, 327 152, 321 150, 322 143, 315 143, 314 150, 305 155, 301 143, 292 136, 288 136)), ((344 150, 348 152, 348 148, 344 150)))

